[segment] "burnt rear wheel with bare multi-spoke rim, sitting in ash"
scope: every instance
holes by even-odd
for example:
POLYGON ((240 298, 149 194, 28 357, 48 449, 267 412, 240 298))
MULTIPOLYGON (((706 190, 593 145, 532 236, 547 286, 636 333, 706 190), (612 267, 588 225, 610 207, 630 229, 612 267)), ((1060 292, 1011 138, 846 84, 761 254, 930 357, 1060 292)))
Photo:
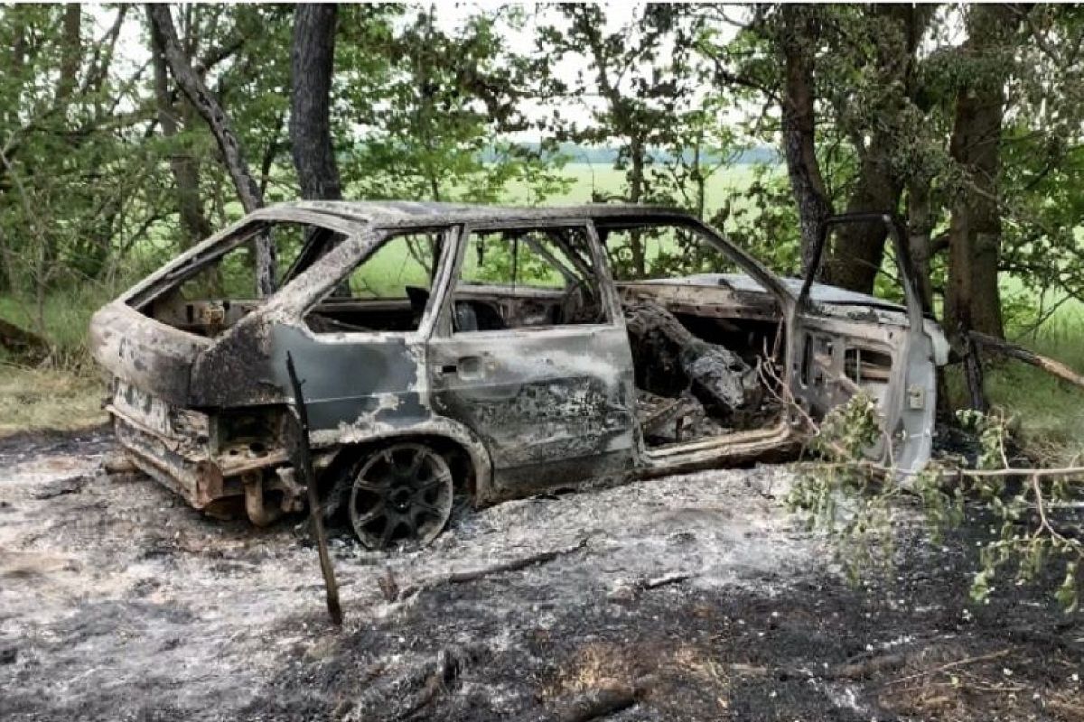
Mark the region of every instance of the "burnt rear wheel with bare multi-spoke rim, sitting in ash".
POLYGON ((354 468, 347 513, 369 549, 421 549, 444 529, 453 496, 448 460, 425 444, 400 442, 354 468))

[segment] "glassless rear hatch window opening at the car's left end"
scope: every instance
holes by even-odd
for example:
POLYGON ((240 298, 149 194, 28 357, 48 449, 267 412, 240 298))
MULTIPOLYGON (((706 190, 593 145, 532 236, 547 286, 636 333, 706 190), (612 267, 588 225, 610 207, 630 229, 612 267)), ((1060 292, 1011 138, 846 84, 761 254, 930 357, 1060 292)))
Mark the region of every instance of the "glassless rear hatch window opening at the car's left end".
POLYGON ((332 248, 343 235, 304 223, 254 223, 207 254, 176 268, 132 301, 139 311, 173 328, 215 338, 260 304, 256 239, 270 234, 275 249, 275 288, 282 288, 318 257, 302 248, 332 248), (150 297, 150 300, 143 300, 150 297))

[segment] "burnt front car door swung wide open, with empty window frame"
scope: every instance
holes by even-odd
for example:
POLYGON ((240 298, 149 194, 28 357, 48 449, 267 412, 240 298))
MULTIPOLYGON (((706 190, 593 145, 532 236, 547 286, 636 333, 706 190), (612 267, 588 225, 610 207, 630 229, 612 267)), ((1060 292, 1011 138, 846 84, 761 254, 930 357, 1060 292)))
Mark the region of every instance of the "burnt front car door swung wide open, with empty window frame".
POLYGON ((854 213, 828 219, 803 279, 792 325, 790 388, 815 417, 859 392, 876 402, 885 436, 872 457, 914 471, 929 459, 937 368, 921 297, 900 225, 889 215, 854 213), (886 224, 903 305, 814 281, 828 233, 847 223, 886 224))

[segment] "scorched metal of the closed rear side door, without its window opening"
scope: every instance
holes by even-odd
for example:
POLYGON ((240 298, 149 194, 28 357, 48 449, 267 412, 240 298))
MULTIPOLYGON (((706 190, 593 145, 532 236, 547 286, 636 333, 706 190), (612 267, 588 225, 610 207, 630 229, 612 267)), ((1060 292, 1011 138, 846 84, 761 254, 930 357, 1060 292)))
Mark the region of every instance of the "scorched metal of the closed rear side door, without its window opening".
MULTIPOLYGON (((450 265, 450 279, 444 286, 443 296, 439 299, 438 305, 433 310, 434 327, 427 343, 430 396, 434 408, 439 413, 466 425, 490 448, 494 496, 498 498, 521 496, 529 488, 557 486, 589 477, 620 474, 632 469, 636 463, 640 450, 638 425, 634 406, 635 386, 632 373, 632 352, 629 346, 617 290, 609 276, 605 253, 591 219, 569 215, 546 219, 472 221, 462 224, 454 242, 456 249, 454 260, 450 265), (582 228, 585 233, 594 266, 594 278, 607 314, 605 323, 466 332, 453 330, 452 312, 455 288, 461 277, 467 246, 473 234, 485 231, 568 227, 582 228), (531 350, 531 340, 534 340, 533 350, 537 350, 538 346, 544 347, 549 343, 553 349, 553 354, 544 358, 528 358, 521 351, 517 353, 517 350, 531 350), (586 345, 580 349, 581 353, 579 354, 566 353, 559 347, 562 343, 575 346, 581 342, 586 345), (502 343, 500 355, 494 351, 480 351, 477 355, 462 353, 464 349, 472 350, 487 344, 494 346, 502 343), (582 350, 592 346, 596 349, 595 356, 583 356, 582 350), (473 367, 467 370, 460 368, 460 358, 474 356, 477 356, 478 360, 472 362, 472 364, 477 363, 477 368, 473 367), (589 398, 596 399, 598 403, 594 406, 589 405, 581 410, 593 410, 599 415, 598 422, 603 431, 598 433, 597 438, 590 434, 580 434, 579 443, 569 438, 565 454, 558 454, 562 449, 560 443, 554 442, 549 447, 543 446, 549 442, 542 436, 545 430, 552 430, 552 426, 546 426, 547 422, 542 418, 544 417, 543 411, 540 411, 538 417, 532 417, 531 406, 525 409, 526 418, 520 420, 520 423, 525 424, 522 436, 527 442, 521 445, 521 448, 509 448, 507 439, 499 441, 494 438, 492 433, 479 428, 480 413, 475 412, 469 406, 478 403, 482 405, 506 403, 506 399, 509 398, 508 392, 515 385, 515 382, 512 381, 513 375, 517 373, 512 368, 513 363, 522 364, 524 373, 534 371, 543 373, 535 379, 526 379, 527 381, 541 382, 545 381, 546 378, 551 380, 562 378, 559 376, 545 377, 545 364, 554 366, 557 371, 576 367, 583 373, 594 375, 594 378, 602 384, 598 389, 605 390, 604 397, 599 398, 593 392, 588 394, 589 398), (504 381, 492 384, 494 386, 492 399, 479 402, 477 394, 472 399, 465 397, 466 384, 480 380, 470 378, 472 373, 488 373, 491 375, 490 378, 500 379, 502 372, 505 373, 504 381), (464 385, 452 385, 455 382, 453 379, 464 385), (499 390, 495 386, 503 389, 499 390), (528 433, 527 425, 534 423, 539 424, 539 430, 535 433, 528 433), (539 446, 533 448, 529 446, 532 441, 539 446), (583 445, 584 442, 588 443, 586 446, 583 445)), ((583 390, 580 392, 582 393, 583 390)), ((540 404, 540 407, 543 405, 545 404, 540 404)))

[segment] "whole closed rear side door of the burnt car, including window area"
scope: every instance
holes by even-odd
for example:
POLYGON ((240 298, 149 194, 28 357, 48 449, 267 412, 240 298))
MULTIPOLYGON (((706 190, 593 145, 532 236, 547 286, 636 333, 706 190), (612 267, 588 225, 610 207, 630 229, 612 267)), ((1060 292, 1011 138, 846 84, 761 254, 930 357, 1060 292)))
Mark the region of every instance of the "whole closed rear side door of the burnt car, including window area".
MULTIPOLYGON (((559 298, 575 291, 568 285, 568 273, 569 268, 564 268, 553 274, 564 288, 553 290, 559 298)), ((533 299, 546 292, 525 290, 533 299)), ((631 464, 635 418, 632 355, 590 223, 465 228, 441 314, 427 354, 434 406, 485 442, 499 494, 554 486, 631 464), (486 234, 517 232, 559 233, 584 240, 589 258, 580 257, 580 267, 590 271, 591 277, 582 280, 593 284, 598 293, 598 317, 586 323, 540 323, 533 314, 516 323, 493 319, 485 328, 477 323, 475 317, 481 314, 464 306, 478 303, 478 289, 482 288, 463 288, 466 268, 474 262, 474 250, 468 253, 468 248, 481 242, 486 234), (590 262, 590 270, 583 261, 590 262), (459 296, 456 289, 462 289, 459 296), (463 320, 465 311, 470 312, 469 323, 463 320), (502 325, 505 327, 499 327, 502 325)))

